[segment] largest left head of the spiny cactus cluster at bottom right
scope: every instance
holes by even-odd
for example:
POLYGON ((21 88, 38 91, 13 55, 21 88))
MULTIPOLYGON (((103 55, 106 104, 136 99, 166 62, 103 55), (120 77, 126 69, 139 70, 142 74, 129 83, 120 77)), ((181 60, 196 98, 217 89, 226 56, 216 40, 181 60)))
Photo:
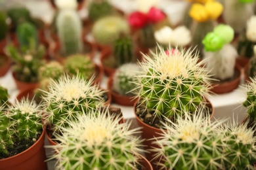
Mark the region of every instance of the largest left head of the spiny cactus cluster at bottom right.
POLYGON ((177 122, 167 120, 163 124, 161 137, 158 137, 155 158, 161 158, 159 163, 169 169, 222 169, 222 143, 216 133, 223 121, 213 121, 199 110, 191 116, 178 116, 177 122))

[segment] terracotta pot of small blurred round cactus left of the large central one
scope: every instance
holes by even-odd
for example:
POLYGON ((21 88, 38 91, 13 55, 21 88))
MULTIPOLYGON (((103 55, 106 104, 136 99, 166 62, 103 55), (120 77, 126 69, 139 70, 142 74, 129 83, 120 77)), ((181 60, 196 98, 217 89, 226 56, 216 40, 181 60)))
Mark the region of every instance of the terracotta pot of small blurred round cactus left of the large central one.
POLYGON ((112 101, 114 103, 117 103, 118 105, 123 106, 133 106, 136 102, 136 99, 133 98, 133 96, 127 96, 127 95, 121 95, 117 92, 115 92, 113 89, 113 75, 108 78, 107 82, 107 88, 108 91, 111 93, 112 101))

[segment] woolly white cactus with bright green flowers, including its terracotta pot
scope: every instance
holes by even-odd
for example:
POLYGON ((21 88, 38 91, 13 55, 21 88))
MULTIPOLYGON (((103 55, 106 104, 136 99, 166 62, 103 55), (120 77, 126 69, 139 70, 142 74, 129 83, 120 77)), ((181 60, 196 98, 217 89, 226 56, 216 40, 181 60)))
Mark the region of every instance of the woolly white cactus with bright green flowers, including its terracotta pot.
POLYGON ((207 33, 202 41, 204 67, 216 79, 212 80, 212 92, 232 92, 240 84, 242 73, 240 67, 236 65, 238 52, 229 44, 233 38, 232 27, 221 24, 215 27, 213 32, 207 33))

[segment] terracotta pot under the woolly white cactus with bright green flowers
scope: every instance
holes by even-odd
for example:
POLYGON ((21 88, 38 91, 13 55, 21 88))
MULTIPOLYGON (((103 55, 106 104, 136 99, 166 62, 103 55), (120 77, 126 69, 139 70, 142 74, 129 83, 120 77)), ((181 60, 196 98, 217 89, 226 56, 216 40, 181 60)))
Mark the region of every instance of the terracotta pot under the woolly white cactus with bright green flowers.
POLYGON ((234 78, 233 80, 226 82, 213 82, 213 88, 211 88, 211 92, 217 94, 228 93, 238 88, 242 76, 242 69, 238 64, 235 65, 235 74, 237 75, 236 78, 234 78))

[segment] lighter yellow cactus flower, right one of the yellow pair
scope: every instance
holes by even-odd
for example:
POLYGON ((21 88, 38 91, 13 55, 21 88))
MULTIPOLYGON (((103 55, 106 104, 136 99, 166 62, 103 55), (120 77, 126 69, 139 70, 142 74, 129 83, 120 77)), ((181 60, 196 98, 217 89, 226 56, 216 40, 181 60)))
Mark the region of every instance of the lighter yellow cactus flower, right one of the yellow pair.
POLYGON ((205 9, 212 20, 216 20, 223 12, 223 5, 219 2, 209 1, 205 3, 205 9))

